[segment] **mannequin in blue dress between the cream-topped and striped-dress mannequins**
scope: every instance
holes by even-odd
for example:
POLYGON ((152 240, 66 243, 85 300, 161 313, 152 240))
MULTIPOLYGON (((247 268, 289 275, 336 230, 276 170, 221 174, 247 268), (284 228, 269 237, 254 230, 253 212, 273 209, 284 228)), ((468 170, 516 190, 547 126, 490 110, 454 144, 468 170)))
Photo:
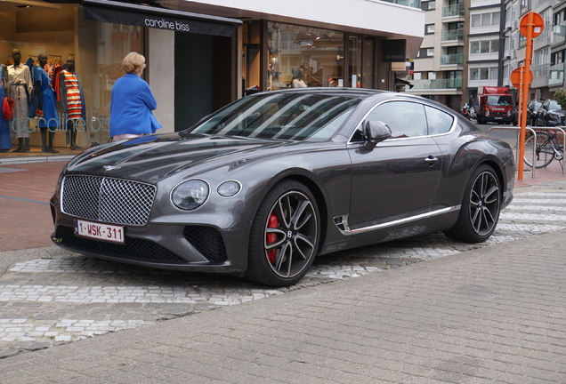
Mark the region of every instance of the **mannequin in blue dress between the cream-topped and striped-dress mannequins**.
POLYGON ((43 152, 58 153, 53 148, 55 131, 59 127, 57 108, 55 108, 55 91, 49 81, 49 76, 44 71, 47 64, 47 55, 42 53, 37 57, 39 67, 36 67, 36 82, 34 84, 37 95, 37 112, 39 117, 39 129, 41 130, 41 150, 43 152), (49 130, 49 147, 47 147, 47 130, 49 130))

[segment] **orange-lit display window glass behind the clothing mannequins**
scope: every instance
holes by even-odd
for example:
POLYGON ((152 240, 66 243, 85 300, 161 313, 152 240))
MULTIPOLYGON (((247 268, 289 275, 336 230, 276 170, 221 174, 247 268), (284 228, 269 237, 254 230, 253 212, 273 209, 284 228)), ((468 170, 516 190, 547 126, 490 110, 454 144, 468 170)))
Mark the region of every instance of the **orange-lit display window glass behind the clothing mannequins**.
MULTIPOLYGON (((35 60, 39 54, 48 57, 48 71, 61 70, 69 57, 75 59, 75 71, 84 94, 85 118, 77 119, 77 145, 90 147, 93 142, 109 140, 109 105, 112 85, 125 75, 122 60, 128 52, 144 54, 143 28, 76 19, 76 9, 61 4, 60 9, 34 8, 20 12, 0 12, 3 39, 0 53, 8 57, 13 49, 21 52, 21 61, 35 60), (78 51, 75 48, 78 47, 78 51)), ((59 72, 53 72, 59 73, 59 72)), ((52 77, 52 84, 57 76, 52 77)), ((61 78, 61 77, 60 77, 61 78)), ((57 90, 57 86, 53 89, 57 90)), ((31 117, 33 119, 33 117, 31 117)), ((66 144, 67 120, 58 116, 53 127, 55 147, 66 144)), ((41 145, 41 133, 32 123, 30 143, 41 145)))

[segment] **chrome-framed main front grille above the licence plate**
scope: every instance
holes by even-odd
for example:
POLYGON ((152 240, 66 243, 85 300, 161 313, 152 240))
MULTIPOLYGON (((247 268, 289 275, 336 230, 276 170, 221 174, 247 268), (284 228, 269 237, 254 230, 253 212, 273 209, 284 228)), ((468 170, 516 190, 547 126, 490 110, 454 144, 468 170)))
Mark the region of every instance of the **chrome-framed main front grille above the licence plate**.
POLYGON ((148 222, 156 187, 132 180, 69 175, 62 183, 62 212, 87 220, 142 226, 148 222))

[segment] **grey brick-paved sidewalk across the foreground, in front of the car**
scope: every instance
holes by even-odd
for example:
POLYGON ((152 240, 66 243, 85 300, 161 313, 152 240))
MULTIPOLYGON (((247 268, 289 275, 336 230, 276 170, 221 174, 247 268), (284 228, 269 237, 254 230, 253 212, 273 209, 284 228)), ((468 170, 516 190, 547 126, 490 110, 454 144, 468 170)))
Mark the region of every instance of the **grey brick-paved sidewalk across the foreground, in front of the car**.
POLYGON ((564 236, 12 356, 0 382, 564 383, 564 236))

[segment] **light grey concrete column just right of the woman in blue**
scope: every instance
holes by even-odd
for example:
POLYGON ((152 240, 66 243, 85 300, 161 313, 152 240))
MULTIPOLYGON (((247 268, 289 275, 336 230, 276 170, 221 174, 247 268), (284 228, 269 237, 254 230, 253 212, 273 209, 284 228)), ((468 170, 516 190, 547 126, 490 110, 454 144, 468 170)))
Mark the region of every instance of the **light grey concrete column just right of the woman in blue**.
POLYGON ((174 132, 174 31, 149 28, 148 83, 151 92, 158 100, 158 108, 153 111, 158 122, 163 125, 157 133, 174 132))

